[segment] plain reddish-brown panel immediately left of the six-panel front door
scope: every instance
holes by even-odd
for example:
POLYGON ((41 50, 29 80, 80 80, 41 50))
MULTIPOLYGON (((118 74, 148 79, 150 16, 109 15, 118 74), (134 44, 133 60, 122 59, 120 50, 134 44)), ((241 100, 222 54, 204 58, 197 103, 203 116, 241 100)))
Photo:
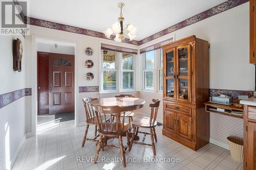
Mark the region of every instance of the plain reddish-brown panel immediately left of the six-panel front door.
POLYGON ((37 114, 49 114, 49 54, 37 52, 37 114))

